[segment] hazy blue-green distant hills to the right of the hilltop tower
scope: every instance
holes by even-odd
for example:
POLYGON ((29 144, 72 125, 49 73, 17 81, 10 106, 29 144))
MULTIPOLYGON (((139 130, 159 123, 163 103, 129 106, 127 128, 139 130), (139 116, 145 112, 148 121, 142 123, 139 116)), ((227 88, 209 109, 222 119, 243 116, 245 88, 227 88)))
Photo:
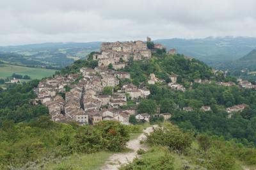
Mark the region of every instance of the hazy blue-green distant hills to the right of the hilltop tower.
POLYGON ((178 53, 200 59, 211 66, 234 61, 256 48, 256 38, 248 37, 172 38, 154 42, 162 43, 167 49, 175 48, 178 53))

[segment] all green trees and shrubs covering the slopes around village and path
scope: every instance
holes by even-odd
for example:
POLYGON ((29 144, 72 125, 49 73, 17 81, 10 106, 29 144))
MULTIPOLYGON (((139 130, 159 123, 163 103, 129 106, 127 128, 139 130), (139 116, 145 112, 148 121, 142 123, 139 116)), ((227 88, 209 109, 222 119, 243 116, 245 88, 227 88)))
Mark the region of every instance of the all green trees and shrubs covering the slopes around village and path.
MULTIPOLYGON (((77 60, 57 73, 67 75, 79 72, 82 67, 95 68, 97 65, 97 61, 77 60)), ((151 94, 141 100, 138 112, 154 114, 160 107, 161 112, 172 114, 168 121, 178 126, 167 124, 163 130, 149 135, 146 143, 152 149, 145 154, 140 151, 142 159, 134 160, 123 169, 241 169, 241 165, 255 166, 255 90, 218 86, 214 82, 236 82, 236 79, 221 73, 214 75, 201 61, 189 60, 179 54, 171 56, 161 52, 154 54, 150 61, 130 59, 122 71, 130 72, 131 79, 120 81, 115 90, 126 82, 148 88, 151 94), (147 84, 150 73, 165 82, 147 84), (171 82, 169 75, 173 73, 178 75, 177 82, 186 91, 168 86, 171 82), (195 83, 194 80, 199 78, 211 79, 212 83, 195 83), (247 104, 248 107, 228 118, 226 107, 236 104, 247 104), (211 111, 202 111, 203 105, 211 106, 211 111), (183 111, 186 106, 192 107, 193 111, 183 111)), ((13 84, 6 90, 0 88, 0 150, 3 150, 0 169, 10 169, 10 166, 71 169, 77 164, 83 166, 80 161, 93 160, 102 153, 102 161, 88 164, 94 169, 111 151, 123 151, 131 132, 140 132, 137 125, 125 126, 116 121, 83 127, 76 123, 52 122, 46 116, 47 107, 40 102, 31 104, 36 86, 38 81, 33 80, 13 84), (95 153, 95 157, 87 155, 91 153, 95 153)), ((162 120, 150 123, 159 121, 162 120)))

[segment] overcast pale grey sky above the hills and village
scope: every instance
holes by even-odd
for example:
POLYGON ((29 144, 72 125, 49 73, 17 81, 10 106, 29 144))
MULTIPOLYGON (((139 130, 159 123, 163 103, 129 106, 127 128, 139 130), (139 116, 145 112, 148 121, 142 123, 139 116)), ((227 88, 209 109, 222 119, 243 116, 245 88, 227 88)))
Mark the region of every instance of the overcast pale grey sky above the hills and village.
POLYGON ((0 45, 256 36, 255 0, 0 0, 0 45))

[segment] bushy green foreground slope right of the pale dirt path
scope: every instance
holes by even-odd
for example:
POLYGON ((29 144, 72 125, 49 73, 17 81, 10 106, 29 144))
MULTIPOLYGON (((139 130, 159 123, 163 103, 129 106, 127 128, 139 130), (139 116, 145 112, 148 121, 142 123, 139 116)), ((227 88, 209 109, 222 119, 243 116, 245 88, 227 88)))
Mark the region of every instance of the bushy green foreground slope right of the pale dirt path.
MULTIPOLYGON (((122 170, 130 169, 243 169, 255 165, 256 150, 204 134, 182 132, 170 123, 156 128, 145 141, 150 149, 141 152, 122 170)), ((254 166, 255 167, 255 166, 254 166)))

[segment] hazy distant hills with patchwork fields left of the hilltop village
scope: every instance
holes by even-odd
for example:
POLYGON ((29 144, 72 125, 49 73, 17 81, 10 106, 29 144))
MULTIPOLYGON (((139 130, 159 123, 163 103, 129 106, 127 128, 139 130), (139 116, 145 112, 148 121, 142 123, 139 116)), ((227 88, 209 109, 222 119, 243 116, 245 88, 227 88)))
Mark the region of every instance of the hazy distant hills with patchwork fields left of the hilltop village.
POLYGON ((0 60, 22 66, 61 68, 99 50, 101 42, 38 43, 0 47, 0 60))

